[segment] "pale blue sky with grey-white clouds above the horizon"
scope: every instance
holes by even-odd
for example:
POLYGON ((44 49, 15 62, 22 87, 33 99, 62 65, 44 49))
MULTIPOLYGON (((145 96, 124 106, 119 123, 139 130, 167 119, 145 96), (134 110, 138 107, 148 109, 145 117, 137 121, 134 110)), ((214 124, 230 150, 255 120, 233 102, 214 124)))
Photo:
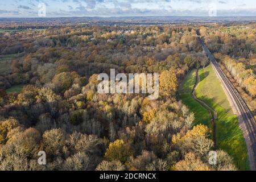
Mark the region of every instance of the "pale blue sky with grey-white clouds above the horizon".
POLYGON ((0 17, 256 16, 255 0, 0 0, 0 17))

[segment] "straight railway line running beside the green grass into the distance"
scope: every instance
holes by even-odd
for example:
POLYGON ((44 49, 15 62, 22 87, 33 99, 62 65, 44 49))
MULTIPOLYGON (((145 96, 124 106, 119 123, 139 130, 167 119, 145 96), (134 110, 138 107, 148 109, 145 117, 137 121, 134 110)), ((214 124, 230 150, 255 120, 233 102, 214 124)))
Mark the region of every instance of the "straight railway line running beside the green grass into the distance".
POLYGON ((225 73, 219 67, 217 61, 214 59, 212 53, 210 53, 209 49, 203 43, 203 40, 199 38, 199 41, 207 53, 208 59, 213 65, 213 69, 221 81, 222 87, 225 90, 226 95, 228 96, 229 102, 232 105, 234 113, 237 114, 237 117, 240 121, 240 128, 243 131, 243 137, 245 138, 250 168, 255 171, 256 169, 256 122, 249 110, 249 107, 246 105, 245 101, 243 101, 240 94, 237 92, 236 88, 234 88, 232 82, 229 81, 228 77, 226 77, 225 73))

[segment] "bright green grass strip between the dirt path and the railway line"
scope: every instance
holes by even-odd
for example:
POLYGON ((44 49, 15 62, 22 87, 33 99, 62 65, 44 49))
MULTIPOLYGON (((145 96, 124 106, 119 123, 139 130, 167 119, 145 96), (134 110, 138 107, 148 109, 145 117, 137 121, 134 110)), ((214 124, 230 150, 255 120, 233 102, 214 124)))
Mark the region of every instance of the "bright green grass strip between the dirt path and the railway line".
POLYGON ((212 106, 218 114, 215 121, 217 147, 228 152, 239 169, 250 169, 242 130, 238 126, 237 116, 233 114, 220 80, 211 65, 201 69, 199 75, 201 82, 196 89, 196 96, 212 106))

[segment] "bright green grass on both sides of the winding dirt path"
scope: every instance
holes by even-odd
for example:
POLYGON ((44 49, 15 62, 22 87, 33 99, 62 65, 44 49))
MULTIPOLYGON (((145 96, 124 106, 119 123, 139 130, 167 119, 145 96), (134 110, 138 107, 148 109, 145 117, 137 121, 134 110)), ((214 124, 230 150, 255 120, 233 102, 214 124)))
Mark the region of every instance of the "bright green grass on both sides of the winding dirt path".
MULTIPOLYGON (((228 98, 222 89, 221 82, 215 75, 212 66, 199 72, 200 84, 196 89, 196 96, 212 106, 216 111, 216 140, 217 148, 228 152, 236 166, 241 170, 250 169, 247 159, 247 148, 242 130, 238 126, 238 119, 233 114, 228 98)), ((196 70, 191 71, 179 89, 180 98, 191 111, 195 113, 195 124, 203 123, 212 128, 210 116, 203 106, 193 100, 191 92, 196 81, 196 70)))

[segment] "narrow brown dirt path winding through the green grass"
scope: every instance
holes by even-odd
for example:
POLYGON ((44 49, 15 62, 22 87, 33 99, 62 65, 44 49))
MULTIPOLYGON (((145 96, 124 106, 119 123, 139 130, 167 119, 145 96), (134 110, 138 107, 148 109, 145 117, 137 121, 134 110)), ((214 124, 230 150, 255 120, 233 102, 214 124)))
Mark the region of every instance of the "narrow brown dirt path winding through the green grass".
POLYGON ((201 101, 199 98, 196 97, 195 92, 196 92, 196 88, 199 85, 199 83, 200 83, 200 76, 199 76, 199 69, 197 69, 197 71, 196 71, 196 83, 193 87, 193 91, 191 93, 191 96, 194 100, 199 102, 199 104, 201 104, 203 107, 205 107, 209 111, 210 118, 212 118, 211 122, 212 122, 212 128, 213 128, 212 135, 213 135, 214 148, 216 148, 217 147, 217 142, 216 142, 216 132, 215 132, 215 129, 216 129, 215 119, 217 119, 217 113, 212 107, 210 107, 204 101, 201 101))

